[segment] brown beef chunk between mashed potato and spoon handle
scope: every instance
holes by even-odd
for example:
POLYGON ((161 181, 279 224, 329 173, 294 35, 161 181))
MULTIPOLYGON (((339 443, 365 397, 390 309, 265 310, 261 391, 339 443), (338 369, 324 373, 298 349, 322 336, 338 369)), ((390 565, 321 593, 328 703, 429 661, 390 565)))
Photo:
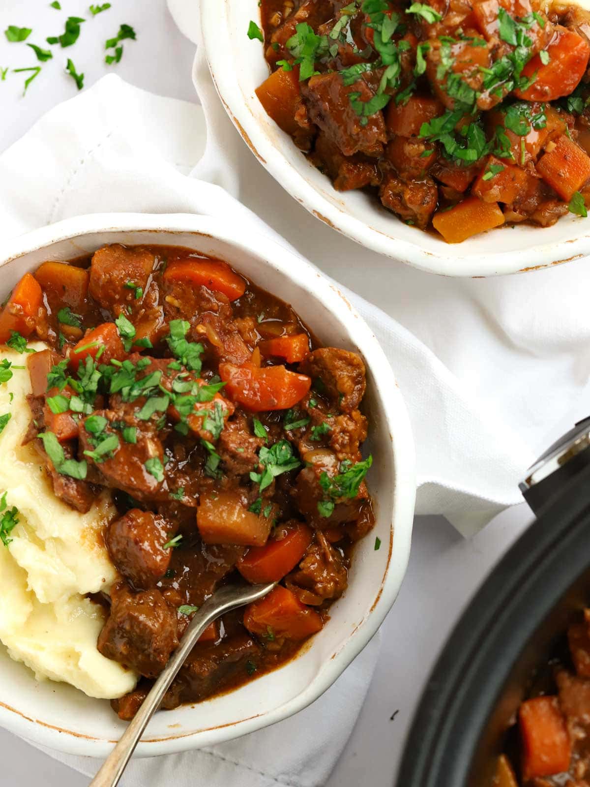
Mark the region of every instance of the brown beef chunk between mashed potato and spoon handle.
POLYGON ((146 678, 156 678, 178 647, 176 612, 157 589, 132 593, 121 582, 98 635, 98 651, 146 678))

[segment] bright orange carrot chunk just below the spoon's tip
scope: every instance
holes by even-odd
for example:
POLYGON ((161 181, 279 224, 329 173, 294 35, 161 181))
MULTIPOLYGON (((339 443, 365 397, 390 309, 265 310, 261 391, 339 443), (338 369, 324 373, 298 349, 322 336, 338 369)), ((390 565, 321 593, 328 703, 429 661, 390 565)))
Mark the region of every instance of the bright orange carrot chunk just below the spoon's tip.
POLYGON ((286 637, 301 640, 315 634, 322 619, 314 609, 301 604, 290 590, 278 585, 260 601, 248 604, 244 626, 259 637, 286 637))

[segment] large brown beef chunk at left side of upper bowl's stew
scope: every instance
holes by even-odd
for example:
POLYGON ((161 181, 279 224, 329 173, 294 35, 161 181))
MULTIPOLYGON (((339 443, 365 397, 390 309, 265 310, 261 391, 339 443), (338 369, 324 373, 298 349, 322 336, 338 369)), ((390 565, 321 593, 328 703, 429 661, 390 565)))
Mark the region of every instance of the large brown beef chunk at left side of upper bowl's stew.
POLYGON ((354 153, 381 156, 387 142, 383 113, 379 111, 369 116, 363 126, 361 116, 352 108, 351 93, 360 93, 360 102, 367 102, 374 95, 363 79, 345 86, 337 72, 312 76, 303 88, 309 117, 341 153, 345 156, 354 153))

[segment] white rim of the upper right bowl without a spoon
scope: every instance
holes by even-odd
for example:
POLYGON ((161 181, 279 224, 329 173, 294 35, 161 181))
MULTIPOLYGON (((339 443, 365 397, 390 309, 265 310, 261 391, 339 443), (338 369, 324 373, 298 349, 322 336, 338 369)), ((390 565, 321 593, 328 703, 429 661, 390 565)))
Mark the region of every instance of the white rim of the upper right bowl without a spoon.
MULTIPOLYGON (((201 0, 200 7, 201 41, 199 48, 202 48, 205 54, 205 60, 223 108, 260 164, 293 198, 324 224, 361 246, 385 255, 385 257, 439 275, 482 278, 511 273, 529 273, 553 265, 565 264, 590 254, 590 227, 585 233, 573 230, 572 237, 559 242, 551 242, 546 236, 543 242, 541 235, 539 235, 539 242, 526 249, 507 249, 501 252, 493 251, 495 236, 490 234, 493 231, 489 231, 487 234, 489 252, 477 252, 462 257, 460 252, 463 244, 444 244, 441 241, 444 246, 441 246, 441 253, 436 253, 421 247, 422 231, 416 231, 416 242, 408 242, 402 238, 390 238, 382 231, 357 219, 348 210, 338 208, 311 183, 308 183, 301 168, 292 166, 286 161, 281 150, 271 141, 262 125, 256 120, 256 116, 249 108, 248 101, 244 100, 245 96, 235 78, 235 64, 231 55, 233 52, 229 24, 231 2, 235 2, 235 0, 201 0), (443 248, 446 249, 446 252, 442 250, 443 248)), ((244 38, 246 38, 245 31, 244 38)), ((197 57, 199 57, 198 52, 197 57)), ((253 98, 256 99, 256 96, 253 95, 253 98)), ((289 142, 291 141, 289 140, 289 142)), ((577 224, 572 226, 577 227, 577 224)), ((535 227, 534 229, 538 233, 543 230, 551 231, 551 227, 535 227)), ((507 228, 504 228, 504 231, 507 231, 507 228)))

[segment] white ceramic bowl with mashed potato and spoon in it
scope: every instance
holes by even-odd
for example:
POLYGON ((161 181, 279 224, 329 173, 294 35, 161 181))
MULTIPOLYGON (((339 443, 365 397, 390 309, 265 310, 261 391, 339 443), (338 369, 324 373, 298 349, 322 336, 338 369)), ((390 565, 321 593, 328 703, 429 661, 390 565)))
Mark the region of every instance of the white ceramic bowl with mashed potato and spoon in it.
MULTIPOLYGON (((138 756, 152 756, 227 741, 285 719, 326 691, 367 645, 407 565, 414 447, 393 371, 367 324, 314 268, 249 227, 202 216, 80 216, 3 246, 0 296, 44 260, 69 260, 118 242, 189 246, 229 260, 289 301, 324 344, 360 353, 367 365, 368 447, 374 457, 368 481, 377 525, 356 548, 348 590, 331 608, 330 622, 285 667, 216 699, 158 713, 138 746, 138 756), (375 536, 382 541, 378 551, 375 536)), ((62 683, 36 682, 3 648, 0 663, 0 726, 61 752, 95 757, 104 757, 125 729, 107 701, 62 683)))

